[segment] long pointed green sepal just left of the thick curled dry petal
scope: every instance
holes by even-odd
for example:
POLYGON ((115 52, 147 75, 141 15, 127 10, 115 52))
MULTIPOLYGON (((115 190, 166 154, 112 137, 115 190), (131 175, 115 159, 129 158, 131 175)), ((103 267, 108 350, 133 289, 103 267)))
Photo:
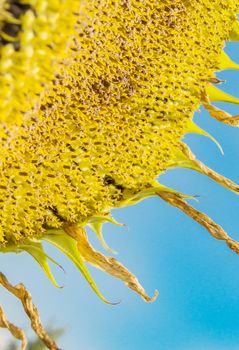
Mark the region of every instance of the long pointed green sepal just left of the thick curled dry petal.
POLYGON ((85 277, 93 291, 98 295, 98 297, 107 304, 113 304, 109 302, 99 291, 96 283, 92 279, 90 273, 88 272, 84 260, 82 259, 78 249, 76 241, 68 236, 65 232, 60 230, 51 230, 49 234, 43 238, 46 242, 54 245, 56 248, 61 250, 68 258, 76 265, 80 270, 82 275, 85 277))

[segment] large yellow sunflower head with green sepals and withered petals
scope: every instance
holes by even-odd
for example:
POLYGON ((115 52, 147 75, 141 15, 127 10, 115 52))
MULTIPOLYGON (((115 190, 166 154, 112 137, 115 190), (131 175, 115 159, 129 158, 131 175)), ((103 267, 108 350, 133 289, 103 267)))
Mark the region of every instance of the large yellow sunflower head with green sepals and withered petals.
POLYGON ((85 263, 154 300, 86 227, 110 250, 102 226, 120 225, 110 210, 159 196, 239 253, 190 196, 156 181, 184 167, 239 192, 182 142, 211 137, 193 122, 201 104, 239 125, 211 104, 239 103, 214 75, 239 68, 223 52, 239 39, 237 12, 237 0, 0 0, 1 252, 29 253, 57 286, 46 241, 104 301, 85 263))

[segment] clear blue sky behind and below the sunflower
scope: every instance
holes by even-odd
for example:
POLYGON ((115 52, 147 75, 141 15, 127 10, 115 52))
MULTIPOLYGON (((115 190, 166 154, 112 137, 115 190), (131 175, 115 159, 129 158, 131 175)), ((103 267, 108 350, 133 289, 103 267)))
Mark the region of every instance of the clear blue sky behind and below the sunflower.
MULTIPOLYGON (((238 44, 227 52, 239 62, 238 44)), ((239 72, 218 76, 221 86, 239 96, 239 72)), ((238 106, 225 106, 239 114, 238 106)), ((238 129, 213 120, 201 110, 196 122, 221 143, 222 156, 205 137, 187 135, 185 141, 197 157, 214 170, 239 182, 238 129)), ((203 175, 171 170, 160 182, 188 194, 200 195, 192 203, 239 240, 238 197, 203 175)), ((239 256, 216 241, 190 218, 158 198, 114 210, 127 228, 107 224, 105 238, 118 259, 134 272, 147 292, 159 290, 156 302, 146 304, 120 281, 89 268, 104 295, 118 306, 103 304, 76 268, 56 250, 50 251, 67 271, 53 270, 55 289, 26 254, 1 255, 1 270, 18 283, 23 281, 39 306, 44 323, 67 329, 61 338, 64 350, 236 350, 239 348, 239 256)), ((90 235, 94 245, 98 242, 90 235)), ((10 319, 25 329, 29 324, 20 305, 3 289, 1 304, 10 319)), ((7 332, 1 331, 4 338, 7 332)), ((31 336, 31 333, 29 332, 31 336)), ((1 346, 0 346, 1 348, 1 346)), ((1 348, 4 350, 4 348, 1 348)))

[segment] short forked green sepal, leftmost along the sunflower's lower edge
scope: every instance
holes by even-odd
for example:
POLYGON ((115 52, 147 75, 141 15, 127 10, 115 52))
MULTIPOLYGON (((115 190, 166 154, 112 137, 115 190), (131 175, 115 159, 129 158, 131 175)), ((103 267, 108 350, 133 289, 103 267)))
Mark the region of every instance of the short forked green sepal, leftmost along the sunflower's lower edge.
POLYGON ((57 288, 62 288, 59 286, 51 272, 51 269, 48 265, 47 259, 53 262, 55 265, 62 269, 62 266, 58 264, 54 259, 52 259, 49 255, 47 255, 42 247, 40 242, 30 242, 30 244, 23 244, 20 246, 22 250, 30 254, 40 265, 44 273, 47 275, 49 280, 54 284, 57 288))

